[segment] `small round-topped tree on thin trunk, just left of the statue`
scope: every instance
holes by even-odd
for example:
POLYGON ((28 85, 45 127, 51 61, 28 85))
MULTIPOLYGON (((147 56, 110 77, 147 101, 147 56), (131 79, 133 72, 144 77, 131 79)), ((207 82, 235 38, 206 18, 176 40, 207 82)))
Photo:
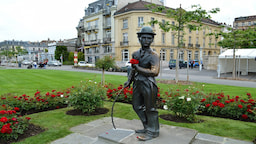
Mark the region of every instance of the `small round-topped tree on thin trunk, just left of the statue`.
POLYGON ((104 56, 102 59, 96 61, 95 66, 102 69, 101 84, 105 85, 104 72, 105 70, 108 70, 109 68, 113 68, 115 66, 115 59, 111 56, 104 56))

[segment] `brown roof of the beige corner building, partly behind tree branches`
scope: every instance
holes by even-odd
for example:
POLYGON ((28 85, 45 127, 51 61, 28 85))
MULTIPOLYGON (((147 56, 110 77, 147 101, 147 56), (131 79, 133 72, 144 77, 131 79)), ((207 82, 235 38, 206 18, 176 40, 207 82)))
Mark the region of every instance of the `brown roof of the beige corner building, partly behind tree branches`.
MULTIPOLYGON (((138 11, 138 10, 149 10, 149 11, 151 11, 149 8, 146 7, 146 5, 150 5, 150 4, 152 4, 152 3, 146 2, 146 1, 141 1, 141 0, 136 1, 134 3, 128 3, 126 6, 124 6, 120 10, 116 11, 114 15, 122 14, 122 13, 129 12, 129 11, 138 11)), ((170 7, 166 7, 166 8, 167 9, 173 9, 173 8, 170 8, 170 7)), ((211 20, 211 19, 203 19, 202 22, 208 23, 208 24, 220 25, 220 23, 215 22, 214 20, 211 20)))

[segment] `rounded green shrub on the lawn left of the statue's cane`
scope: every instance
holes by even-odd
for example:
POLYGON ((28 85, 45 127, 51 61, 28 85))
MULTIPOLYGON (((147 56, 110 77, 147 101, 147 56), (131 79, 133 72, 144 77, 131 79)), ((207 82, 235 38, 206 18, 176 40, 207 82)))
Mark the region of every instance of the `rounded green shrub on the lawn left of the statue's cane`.
POLYGON ((100 84, 88 80, 82 81, 80 86, 72 89, 69 102, 75 109, 90 114, 96 108, 103 107, 106 89, 100 84))

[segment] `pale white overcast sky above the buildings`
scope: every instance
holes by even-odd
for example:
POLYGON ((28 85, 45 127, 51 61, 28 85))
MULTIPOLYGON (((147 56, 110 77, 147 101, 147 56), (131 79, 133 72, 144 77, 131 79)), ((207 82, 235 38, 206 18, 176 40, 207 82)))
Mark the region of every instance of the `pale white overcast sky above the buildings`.
MULTIPOLYGON (((84 9, 96 0, 0 0, 0 42, 42 41, 77 37, 76 26, 84 9)), ((189 9, 220 8, 212 15, 218 22, 233 24, 235 17, 256 15, 256 0, 166 0, 166 6, 189 9)))

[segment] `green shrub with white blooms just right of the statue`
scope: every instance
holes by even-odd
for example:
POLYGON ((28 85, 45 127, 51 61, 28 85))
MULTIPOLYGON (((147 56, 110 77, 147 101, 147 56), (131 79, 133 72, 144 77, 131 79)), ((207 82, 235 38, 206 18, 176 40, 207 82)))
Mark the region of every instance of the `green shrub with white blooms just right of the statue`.
POLYGON ((169 110, 173 111, 177 117, 185 118, 188 121, 196 121, 196 113, 203 93, 195 88, 185 90, 170 89, 165 92, 167 98, 165 103, 169 110))

